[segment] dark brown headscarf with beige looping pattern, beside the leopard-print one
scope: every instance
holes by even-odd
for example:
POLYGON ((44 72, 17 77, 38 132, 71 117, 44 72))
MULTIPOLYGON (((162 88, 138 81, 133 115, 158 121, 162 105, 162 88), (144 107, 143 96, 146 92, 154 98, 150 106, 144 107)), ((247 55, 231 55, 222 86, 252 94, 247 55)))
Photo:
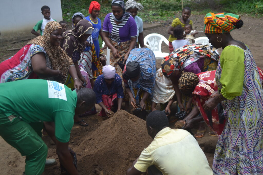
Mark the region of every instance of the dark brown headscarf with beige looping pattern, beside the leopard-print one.
POLYGON ((91 22, 86 19, 82 19, 78 22, 74 29, 66 31, 63 34, 61 47, 68 54, 68 56, 71 57, 73 52, 76 50, 80 54, 86 48, 86 42, 79 41, 79 37, 84 35, 89 29, 94 29, 91 22))

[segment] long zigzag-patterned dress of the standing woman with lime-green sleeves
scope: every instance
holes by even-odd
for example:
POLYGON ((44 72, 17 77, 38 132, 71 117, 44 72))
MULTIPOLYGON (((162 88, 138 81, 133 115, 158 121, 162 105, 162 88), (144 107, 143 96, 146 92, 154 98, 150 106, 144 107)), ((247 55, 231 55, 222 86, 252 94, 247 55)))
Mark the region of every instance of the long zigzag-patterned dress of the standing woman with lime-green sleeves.
MULTIPOLYGON (((230 47, 241 49, 236 45, 230 47)), ((242 94, 222 102, 226 124, 216 145, 214 174, 263 174, 263 89, 256 63, 249 48, 246 48, 243 50, 245 71, 242 94)), ((222 55, 220 61, 223 61, 222 55)), ((220 61, 216 82, 222 93, 220 61)))

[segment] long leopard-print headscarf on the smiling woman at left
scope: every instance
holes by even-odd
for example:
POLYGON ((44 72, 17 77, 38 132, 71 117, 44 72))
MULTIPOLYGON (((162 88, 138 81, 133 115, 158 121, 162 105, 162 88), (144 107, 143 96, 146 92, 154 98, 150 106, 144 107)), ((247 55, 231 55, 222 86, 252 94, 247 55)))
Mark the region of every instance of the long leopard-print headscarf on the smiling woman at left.
POLYGON ((51 62, 54 70, 60 70, 64 75, 63 80, 60 83, 65 83, 68 76, 68 69, 71 65, 74 65, 72 59, 61 49, 60 46, 54 46, 50 40, 50 34, 57 29, 62 29, 61 25, 56 21, 50 21, 45 26, 44 34, 30 40, 27 44, 37 44, 42 46, 51 62))

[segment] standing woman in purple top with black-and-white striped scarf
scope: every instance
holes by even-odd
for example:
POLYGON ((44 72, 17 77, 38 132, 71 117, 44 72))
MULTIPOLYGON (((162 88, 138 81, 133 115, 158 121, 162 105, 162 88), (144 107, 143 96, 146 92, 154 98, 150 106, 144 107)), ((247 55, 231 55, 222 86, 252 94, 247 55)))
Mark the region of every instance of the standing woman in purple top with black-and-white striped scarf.
MULTIPOLYGON (((122 78, 120 65, 123 64, 124 66, 130 51, 135 47, 137 39, 136 22, 130 13, 125 12, 123 0, 112 1, 112 13, 106 15, 102 31, 103 40, 111 50, 110 65, 116 68, 116 73, 122 78)), ((124 101, 128 101, 125 105, 125 108, 128 108, 128 94, 125 94, 124 101)))

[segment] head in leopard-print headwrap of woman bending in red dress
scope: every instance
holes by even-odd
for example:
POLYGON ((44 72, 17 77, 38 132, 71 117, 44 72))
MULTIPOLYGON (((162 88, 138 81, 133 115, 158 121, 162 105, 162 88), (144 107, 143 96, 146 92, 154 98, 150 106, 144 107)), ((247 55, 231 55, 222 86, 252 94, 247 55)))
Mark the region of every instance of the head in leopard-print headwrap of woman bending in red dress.
POLYGON ((191 96, 195 86, 198 84, 199 78, 192 72, 183 72, 182 76, 179 78, 179 89, 181 93, 191 96))

